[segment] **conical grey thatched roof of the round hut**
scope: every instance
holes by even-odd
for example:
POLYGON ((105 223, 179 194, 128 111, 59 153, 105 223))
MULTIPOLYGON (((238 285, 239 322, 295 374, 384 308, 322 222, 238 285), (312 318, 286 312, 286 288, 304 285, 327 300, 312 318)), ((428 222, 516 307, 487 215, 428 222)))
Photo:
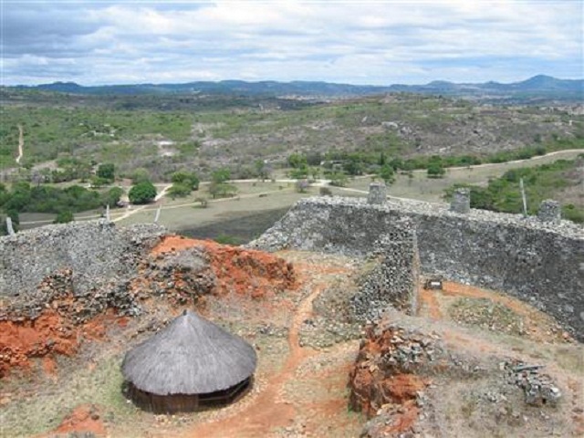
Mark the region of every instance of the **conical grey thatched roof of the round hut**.
POLYGON ((191 311, 126 353, 121 372, 158 395, 223 391, 255 371, 255 349, 191 311))

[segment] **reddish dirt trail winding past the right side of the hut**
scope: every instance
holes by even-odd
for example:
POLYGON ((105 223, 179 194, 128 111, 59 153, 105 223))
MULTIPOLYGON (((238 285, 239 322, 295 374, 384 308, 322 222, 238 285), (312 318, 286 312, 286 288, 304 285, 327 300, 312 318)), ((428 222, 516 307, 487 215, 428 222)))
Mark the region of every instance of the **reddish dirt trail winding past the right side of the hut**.
MULTIPOLYGON (((312 302, 323 290, 322 285, 314 287, 297 308, 292 326, 288 332, 290 352, 282 370, 266 381, 266 390, 255 397, 243 412, 236 412, 226 419, 205 422, 177 436, 204 436, 224 438, 226 436, 256 437, 294 422, 297 409, 291 402, 283 400, 282 391, 287 381, 294 378, 298 367, 304 360, 315 354, 314 351, 300 347, 299 330, 303 321, 312 313, 312 302)), ((168 434, 165 434, 168 436, 168 434)))

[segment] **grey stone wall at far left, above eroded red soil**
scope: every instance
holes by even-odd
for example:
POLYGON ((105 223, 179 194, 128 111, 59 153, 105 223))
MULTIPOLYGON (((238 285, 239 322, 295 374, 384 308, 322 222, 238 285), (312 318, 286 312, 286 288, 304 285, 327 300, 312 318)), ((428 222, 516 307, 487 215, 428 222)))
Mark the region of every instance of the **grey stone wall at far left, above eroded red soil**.
POLYGON ((108 221, 48 225, 0 237, 0 297, 36 293, 43 278, 70 270, 83 294, 134 270, 145 245, 162 235, 153 224, 116 228, 108 221))

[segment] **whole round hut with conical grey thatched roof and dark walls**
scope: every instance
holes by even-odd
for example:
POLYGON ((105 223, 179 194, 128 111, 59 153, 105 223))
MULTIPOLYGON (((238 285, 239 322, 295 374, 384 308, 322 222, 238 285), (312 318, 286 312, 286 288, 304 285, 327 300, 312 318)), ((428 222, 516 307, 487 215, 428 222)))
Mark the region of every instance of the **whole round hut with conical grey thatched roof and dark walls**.
POLYGON ((255 349, 214 323, 184 311, 121 364, 125 391, 142 409, 191 412, 221 406, 253 383, 255 349))

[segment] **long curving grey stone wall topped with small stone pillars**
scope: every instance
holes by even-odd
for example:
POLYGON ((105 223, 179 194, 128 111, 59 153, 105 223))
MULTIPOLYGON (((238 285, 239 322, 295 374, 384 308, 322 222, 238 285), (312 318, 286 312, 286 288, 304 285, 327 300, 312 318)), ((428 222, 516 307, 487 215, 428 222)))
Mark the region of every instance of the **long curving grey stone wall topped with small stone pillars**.
POLYGON ((250 245, 366 255, 379 236, 410 221, 422 273, 505 291, 558 318, 584 339, 584 230, 562 221, 446 205, 351 198, 297 203, 250 245))

